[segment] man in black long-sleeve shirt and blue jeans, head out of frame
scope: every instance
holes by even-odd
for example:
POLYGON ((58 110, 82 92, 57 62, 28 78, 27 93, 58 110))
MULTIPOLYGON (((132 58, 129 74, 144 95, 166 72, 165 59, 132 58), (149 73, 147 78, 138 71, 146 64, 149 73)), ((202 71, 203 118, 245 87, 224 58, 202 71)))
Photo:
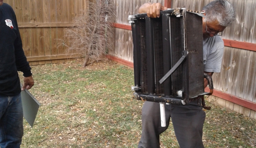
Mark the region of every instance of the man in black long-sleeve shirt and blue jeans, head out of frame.
POLYGON ((0 147, 20 148, 23 136, 21 90, 34 85, 31 67, 22 49, 12 7, 0 0, 0 147), (18 71, 23 72, 21 88, 18 71))

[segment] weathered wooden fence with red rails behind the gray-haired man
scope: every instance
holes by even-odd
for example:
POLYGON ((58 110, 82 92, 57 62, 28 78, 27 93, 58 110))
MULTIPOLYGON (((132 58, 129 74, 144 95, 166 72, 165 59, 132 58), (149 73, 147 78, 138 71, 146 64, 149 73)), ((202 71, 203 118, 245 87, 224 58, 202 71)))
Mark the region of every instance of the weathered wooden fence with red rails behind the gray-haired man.
MULTIPOLYGON (((132 32, 127 18, 137 14, 143 3, 162 3, 168 8, 201 11, 213 0, 114 0, 115 48, 108 57, 133 67, 132 32)), ((228 0, 237 19, 223 32, 224 56, 221 73, 214 73, 214 96, 219 104, 256 119, 256 0, 228 0)), ((207 90, 207 89, 206 89, 207 90)))

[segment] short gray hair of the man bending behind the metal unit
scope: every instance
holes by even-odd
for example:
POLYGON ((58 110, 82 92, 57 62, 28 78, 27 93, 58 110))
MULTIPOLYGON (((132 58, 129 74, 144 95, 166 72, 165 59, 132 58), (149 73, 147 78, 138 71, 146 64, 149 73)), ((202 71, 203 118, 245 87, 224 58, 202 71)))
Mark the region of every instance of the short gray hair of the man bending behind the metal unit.
POLYGON ((235 9, 227 0, 214 0, 203 7, 207 21, 218 20, 221 26, 230 26, 236 17, 235 9))

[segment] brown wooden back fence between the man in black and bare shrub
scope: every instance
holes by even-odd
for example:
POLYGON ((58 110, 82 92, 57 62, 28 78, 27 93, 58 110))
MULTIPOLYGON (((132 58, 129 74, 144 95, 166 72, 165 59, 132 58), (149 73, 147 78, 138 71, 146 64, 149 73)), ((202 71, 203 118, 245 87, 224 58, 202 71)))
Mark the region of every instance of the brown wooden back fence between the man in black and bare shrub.
POLYGON ((4 0, 15 11, 23 49, 29 64, 64 62, 77 53, 63 46, 64 29, 74 26, 88 0, 4 0))

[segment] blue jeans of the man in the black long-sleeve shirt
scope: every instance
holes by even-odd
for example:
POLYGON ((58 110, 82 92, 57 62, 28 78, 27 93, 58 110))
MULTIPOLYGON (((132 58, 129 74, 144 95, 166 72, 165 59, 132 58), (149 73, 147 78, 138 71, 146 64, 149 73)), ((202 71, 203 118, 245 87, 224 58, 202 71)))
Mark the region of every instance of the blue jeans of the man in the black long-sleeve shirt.
POLYGON ((20 148, 23 136, 21 94, 0 96, 0 147, 20 148))

